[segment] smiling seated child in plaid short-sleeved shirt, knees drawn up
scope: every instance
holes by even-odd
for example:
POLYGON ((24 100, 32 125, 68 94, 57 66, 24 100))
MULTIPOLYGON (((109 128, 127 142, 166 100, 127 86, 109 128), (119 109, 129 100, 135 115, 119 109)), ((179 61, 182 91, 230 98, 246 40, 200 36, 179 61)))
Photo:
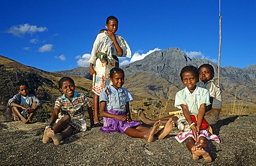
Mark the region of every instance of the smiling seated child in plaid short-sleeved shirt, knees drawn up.
POLYGON ((93 127, 92 103, 83 93, 77 93, 75 88, 75 82, 72 78, 62 77, 60 79, 59 89, 63 95, 55 101, 50 123, 44 130, 44 144, 52 138, 53 143, 59 145, 62 139, 70 136, 73 132, 86 130, 85 109, 89 112, 91 127, 93 127), (55 125, 52 127, 54 123, 55 125))

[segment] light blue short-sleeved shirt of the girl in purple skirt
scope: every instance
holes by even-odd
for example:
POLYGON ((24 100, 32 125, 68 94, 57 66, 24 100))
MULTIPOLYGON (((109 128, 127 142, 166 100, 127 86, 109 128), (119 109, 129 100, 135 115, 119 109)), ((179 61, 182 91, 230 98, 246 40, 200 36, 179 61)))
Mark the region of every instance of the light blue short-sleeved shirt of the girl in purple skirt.
POLYGON ((100 93, 100 101, 106 101, 105 110, 126 111, 126 102, 133 100, 131 93, 125 88, 116 90, 112 85, 104 88, 100 93))

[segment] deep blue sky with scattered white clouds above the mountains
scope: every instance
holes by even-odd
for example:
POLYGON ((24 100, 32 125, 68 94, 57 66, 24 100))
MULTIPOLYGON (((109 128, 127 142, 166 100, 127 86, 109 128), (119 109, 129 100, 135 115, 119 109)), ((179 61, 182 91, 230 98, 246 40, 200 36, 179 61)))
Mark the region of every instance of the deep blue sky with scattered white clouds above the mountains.
MULTIPOLYGON (((106 19, 119 20, 132 58, 178 47, 218 64, 219 0, 0 1, 0 55, 45 71, 88 67, 106 19)), ((256 1, 221 1, 221 66, 256 64, 256 1)))

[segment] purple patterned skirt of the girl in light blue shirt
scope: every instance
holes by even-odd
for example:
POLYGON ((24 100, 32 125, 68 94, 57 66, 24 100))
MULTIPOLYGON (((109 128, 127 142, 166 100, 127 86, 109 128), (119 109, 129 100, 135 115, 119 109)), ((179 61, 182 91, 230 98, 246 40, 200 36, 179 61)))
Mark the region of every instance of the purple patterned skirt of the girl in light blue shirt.
MULTIPOLYGON (((123 111, 108 110, 106 112, 115 114, 115 115, 126 116, 125 112, 123 111)), ((103 127, 101 127, 100 130, 101 132, 104 132, 104 133, 110 133, 110 132, 124 133, 127 128, 140 126, 140 125, 141 124, 138 123, 138 121, 131 121, 130 123, 127 123, 126 121, 122 121, 115 118, 103 118, 103 127)))

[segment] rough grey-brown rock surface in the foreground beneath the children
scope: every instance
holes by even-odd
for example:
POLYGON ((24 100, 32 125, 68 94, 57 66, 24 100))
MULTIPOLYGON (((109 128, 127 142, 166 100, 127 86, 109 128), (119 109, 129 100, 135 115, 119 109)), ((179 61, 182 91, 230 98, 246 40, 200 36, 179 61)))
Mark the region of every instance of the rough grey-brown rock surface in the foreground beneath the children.
POLYGON ((47 123, 0 123, 0 165, 255 165, 256 116, 222 117, 213 132, 221 143, 211 142, 213 161, 194 161, 178 130, 152 143, 99 128, 72 135, 55 146, 42 143, 47 123))

